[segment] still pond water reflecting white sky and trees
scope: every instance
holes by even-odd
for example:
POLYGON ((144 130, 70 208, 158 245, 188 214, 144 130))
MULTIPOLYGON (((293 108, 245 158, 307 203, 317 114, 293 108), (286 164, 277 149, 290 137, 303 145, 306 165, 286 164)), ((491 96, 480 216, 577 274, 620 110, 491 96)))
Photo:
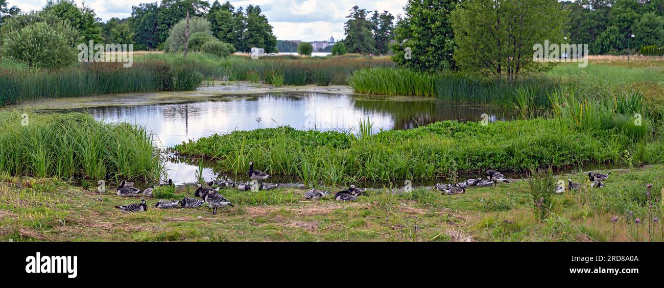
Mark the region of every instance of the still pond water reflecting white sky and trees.
MULTIPOLYGON (((509 120, 515 115, 505 108, 448 104, 436 98, 293 92, 223 95, 201 102, 98 107, 85 111, 110 123, 145 125, 158 135, 162 147, 214 133, 282 125, 355 133, 359 120, 368 118, 373 123, 373 133, 378 133, 381 129, 411 129, 443 120, 480 121, 482 114, 487 114, 489 121, 509 120)), ((203 166, 205 179, 218 176, 212 165, 203 166)), ((169 161, 167 167, 169 177, 178 184, 193 182, 199 170, 192 161, 169 161)))

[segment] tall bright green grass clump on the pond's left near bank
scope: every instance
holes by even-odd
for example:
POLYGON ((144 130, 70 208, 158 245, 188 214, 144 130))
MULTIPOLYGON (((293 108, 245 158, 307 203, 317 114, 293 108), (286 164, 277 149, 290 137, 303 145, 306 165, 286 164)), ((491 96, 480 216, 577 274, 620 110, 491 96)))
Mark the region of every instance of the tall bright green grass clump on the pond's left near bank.
POLYGON ((82 113, 0 112, 0 171, 96 180, 159 179, 163 165, 144 127, 105 124, 82 113))

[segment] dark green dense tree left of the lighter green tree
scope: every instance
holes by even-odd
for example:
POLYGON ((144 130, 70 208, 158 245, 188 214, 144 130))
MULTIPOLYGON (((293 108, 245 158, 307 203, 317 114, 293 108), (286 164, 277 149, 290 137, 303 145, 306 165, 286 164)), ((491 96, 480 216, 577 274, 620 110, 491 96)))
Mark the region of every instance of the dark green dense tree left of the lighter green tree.
POLYGON ((450 13, 459 0, 409 0, 405 17, 397 21, 392 60, 416 70, 454 68, 454 32, 450 13), (410 58, 410 59, 407 59, 410 58))

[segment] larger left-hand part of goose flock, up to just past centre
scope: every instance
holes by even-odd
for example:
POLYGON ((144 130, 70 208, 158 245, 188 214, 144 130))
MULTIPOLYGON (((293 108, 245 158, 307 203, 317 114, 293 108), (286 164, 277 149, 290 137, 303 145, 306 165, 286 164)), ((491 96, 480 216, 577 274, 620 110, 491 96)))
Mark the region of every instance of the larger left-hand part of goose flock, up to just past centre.
MULTIPOLYGON (((249 162, 249 171, 247 171, 247 175, 251 180, 261 181, 260 186, 257 186, 259 190, 272 190, 279 186, 279 184, 264 183, 264 180, 272 177, 267 173, 264 173, 263 171, 254 170, 253 162, 249 162)), ((171 209, 171 208, 181 208, 181 207, 198 208, 203 206, 203 204, 208 203, 206 206, 212 208, 212 215, 214 215, 216 214, 217 208, 224 206, 234 206, 232 203, 230 203, 230 201, 224 198, 224 196, 219 194, 220 190, 229 187, 237 187, 239 190, 243 191, 251 189, 250 182, 244 182, 236 185, 231 180, 212 180, 207 184, 208 184, 207 187, 203 187, 203 184, 200 183, 197 184, 198 188, 194 192, 194 196, 196 198, 190 198, 185 196, 185 198, 183 198, 182 200, 177 200, 177 201, 159 199, 157 203, 155 203, 155 208, 159 209, 171 209)), ((173 184, 173 181, 169 179, 168 182, 159 184, 159 186, 175 187, 175 184, 173 184)), ((139 188, 133 187, 133 182, 127 182, 123 180, 118 186, 116 194, 118 196, 128 196, 128 197, 136 197, 136 196, 151 197, 154 188, 155 187, 152 186, 150 188, 141 190, 139 188)), ((366 195, 365 193, 366 191, 367 189, 355 188, 355 185, 351 185, 351 187, 348 188, 347 190, 336 192, 335 200, 355 201, 357 200, 358 196, 366 195)), ((312 188, 311 190, 307 191, 304 194, 304 197, 311 200, 319 200, 321 198, 325 198, 325 196, 327 196, 329 193, 330 193, 329 190, 316 190, 315 188, 312 188)), ((126 206, 116 206, 116 208, 124 212, 141 212, 141 211, 147 211, 147 204, 145 203, 145 199, 141 199, 140 203, 129 204, 126 206)))

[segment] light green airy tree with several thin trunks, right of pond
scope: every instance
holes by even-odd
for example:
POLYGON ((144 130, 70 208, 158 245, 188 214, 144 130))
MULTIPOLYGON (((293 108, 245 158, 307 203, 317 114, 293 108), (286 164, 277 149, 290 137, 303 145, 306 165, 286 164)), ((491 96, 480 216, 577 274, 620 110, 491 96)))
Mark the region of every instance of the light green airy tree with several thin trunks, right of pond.
POLYGON ((467 72, 509 81, 546 70, 550 65, 533 60, 533 47, 562 42, 564 19, 557 0, 464 1, 452 13, 454 60, 467 72))

